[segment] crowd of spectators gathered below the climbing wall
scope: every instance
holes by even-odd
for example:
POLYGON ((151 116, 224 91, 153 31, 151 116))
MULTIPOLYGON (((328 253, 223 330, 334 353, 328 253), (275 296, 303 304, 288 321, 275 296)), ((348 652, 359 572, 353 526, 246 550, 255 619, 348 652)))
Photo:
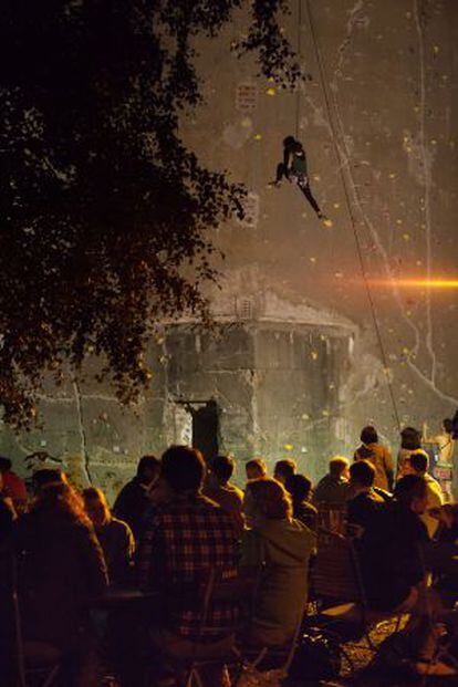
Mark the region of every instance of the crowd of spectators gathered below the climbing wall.
MULTIPOLYGON (((29 496, 1 458, 0 544, 14 561, 24 641, 58 648, 65 685, 100 684, 101 655, 113 646, 119 684, 152 684, 143 681, 146 656, 160 685, 177 672, 170 657, 220 648, 240 627, 240 606, 226 597, 210 604, 202 629, 199 590, 216 571, 256 586, 243 642, 282 646, 305 614, 321 513, 335 511, 355 541, 368 605, 406 611, 421 628, 418 673, 456 676, 434 659, 424 617, 433 605, 435 621, 447 610, 455 623, 458 507, 445 502, 415 429, 403 430, 396 462, 374 427, 361 441, 353 461, 333 457, 315 486, 292 459, 278 460, 272 477, 263 459, 251 459, 244 489, 232 482, 232 457, 205 461, 197 449, 173 446, 139 460, 112 509, 101 489, 79 492, 59 469, 37 470, 29 496), (104 597, 134 589, 144 594, 138 616, 104 610, 104 597)), ((4 614, 0 645, 11 641, 11 623, 4 614)), ((228 685, 225 664, 209 664, 202 679, 228 685)))

